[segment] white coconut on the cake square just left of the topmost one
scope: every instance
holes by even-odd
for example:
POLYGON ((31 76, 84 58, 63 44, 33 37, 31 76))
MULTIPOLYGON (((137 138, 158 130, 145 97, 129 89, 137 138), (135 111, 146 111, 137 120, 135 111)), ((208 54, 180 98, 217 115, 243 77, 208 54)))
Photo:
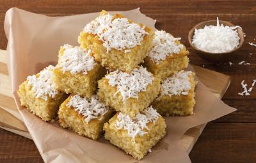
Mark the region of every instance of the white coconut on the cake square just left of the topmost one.
POLYGON ((72 74, 87 74, 96 65, 94 58, 90 55, 92 53, 91 50, 71 45, 64 45, 63 48, 65 50, 59 62, 63 73, 70 71, 72 74))

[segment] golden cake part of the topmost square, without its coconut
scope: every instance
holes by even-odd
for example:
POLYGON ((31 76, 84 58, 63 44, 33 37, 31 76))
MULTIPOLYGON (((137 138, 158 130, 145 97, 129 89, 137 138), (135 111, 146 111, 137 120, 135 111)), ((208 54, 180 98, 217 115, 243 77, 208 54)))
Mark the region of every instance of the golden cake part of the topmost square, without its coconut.
MULTIPOLYGON (((101 15, 102 14, 106 14, 106 11, 102 11, 101 15)), ((113 18, 119 17, 122 16, 115 15, 113 18)), ((143 26, 141 24, 139 25, 143 26)), ((147 26, 145 27, 145 31, 148 32, 148 35, 143 37, 141 45, 131 48, 131 52, 127 53, 125 53, 125 50, 116 50, 115 48, 107 52, 106 48, 102 45, 103 42, 99 40, 99 36, 85 31, 80 33, 78 43, 81 48, 90 48, 93 51, 95 60, 100 62, 102 66, 106 66, 109 70, 114 71, 119 69, 121 71, 130 72, 132 69, 138 67, 138 64, 143 62, 153 46, 152 39, 154 38, 154 31, 147 26)))

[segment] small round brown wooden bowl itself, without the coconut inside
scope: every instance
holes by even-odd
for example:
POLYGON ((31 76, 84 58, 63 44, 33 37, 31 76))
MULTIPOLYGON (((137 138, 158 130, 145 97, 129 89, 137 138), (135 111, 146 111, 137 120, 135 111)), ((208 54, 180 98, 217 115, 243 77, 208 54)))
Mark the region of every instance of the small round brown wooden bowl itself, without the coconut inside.
MULTIPOLYGON (((236 26, 234 24, 231 24, 230 22, 226 22, 226 21, 223 21, 223 20, 219 20, 220 24, 223 24, 223 25, 228 25, 228 26, 236 26)), ((205 21, 205 22, 200 22, 199 24, 195 25, 195 27, 193 27, 189 33, 188 33, 188 41, 189 41, 189 45, 191 46, 191 48, 193 50, 196 51, 196 53, 202 57, 202 59, 205 59, 205 60, 209 60, 209 61, 212 61, 212 62, 221 62, 221 61, 226 61, 228 59, 230 59, 233 55, 234 55, 234 52, 239 50, 239 48, 241 48, 241 46, 243 45, 244 43, 244 34, 243 34, 243 30, 241 28, 237 28, 237 33, 239 35, 239 45, 234 48, 233 50, 231 50, 230 52, 223 52, 223 53, 211 53, 211 52, 205 52, 204 50, 200 50, 198 48, 196 48, 193 43, 192 43, 192 38, 194 36, 194 32, 195 32, 195 29, 202 29, 205 27, 205 25, 216 25, 217 24, 217 20, 209 20, 209 21, 205 21)))

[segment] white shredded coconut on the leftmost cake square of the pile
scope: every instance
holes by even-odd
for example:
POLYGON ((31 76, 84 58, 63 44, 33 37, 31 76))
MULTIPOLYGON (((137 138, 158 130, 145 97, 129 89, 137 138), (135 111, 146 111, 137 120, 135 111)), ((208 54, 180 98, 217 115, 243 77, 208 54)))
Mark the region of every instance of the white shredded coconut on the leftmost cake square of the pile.
POLYGON ((27 77, 28 84, 32 86, 31 90, 35 92, 36 98, 42 98, 47 101, 47 96, 54 98, 58 94, 58 90, 56 90, 52 82, 53 69, 54 67, 50 65, 45 67, 38 77, 35 74, 27 77))

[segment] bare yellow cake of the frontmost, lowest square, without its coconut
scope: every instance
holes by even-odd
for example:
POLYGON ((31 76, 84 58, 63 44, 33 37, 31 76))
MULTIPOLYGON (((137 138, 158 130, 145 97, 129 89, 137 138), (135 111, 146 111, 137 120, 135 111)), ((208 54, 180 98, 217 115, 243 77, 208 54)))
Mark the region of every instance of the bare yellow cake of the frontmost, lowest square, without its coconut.
POLYGON ((150 122, 147 124, 149 131, 143 136, 136 136, 133 141, 124 129, 118 130, 115 127, 117 114, 104 124, 104 137, 118 148, 124 150, 125 153, 132 155, 135 159, 143 159, 148 150, 162 139, 166 134, 166 123, 163 117, 159 117, 156 124, 150 122))

